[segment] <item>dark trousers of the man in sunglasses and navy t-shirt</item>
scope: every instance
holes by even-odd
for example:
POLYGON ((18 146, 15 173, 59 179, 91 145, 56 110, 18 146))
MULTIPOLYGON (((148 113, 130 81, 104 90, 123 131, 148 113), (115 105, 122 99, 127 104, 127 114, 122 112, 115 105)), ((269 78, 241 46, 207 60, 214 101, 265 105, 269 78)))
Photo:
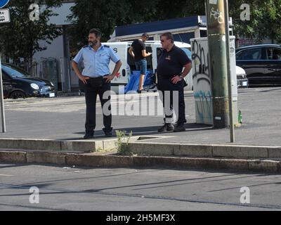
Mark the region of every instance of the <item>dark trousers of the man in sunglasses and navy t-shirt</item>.
POLYGON ((178 117, 178 124, 184 124, 185 123, 185 101, 184 101, 184 81, 178 82, 178 84, 173 84, 171 82, 171 79, 158 79, 157 84, 158 90, 161 92, 163 98, 163 108, 165 112, 165 122, 171 123, 171 120, 173 118, 173 109, 175 109, 176 116, 178 117), (169 91, 166 92, 165 91, 169 91), (174 91, 174 93, 173 93, 174 91), (178 95, 178 105, 177 107, 174 107, 176 103, 173 101, 173 94, 178 95), (166 97, 170 98, 169 101, 166 101, 166 97), (168 102, 169 105, 166 105, 165 102, 168 102))

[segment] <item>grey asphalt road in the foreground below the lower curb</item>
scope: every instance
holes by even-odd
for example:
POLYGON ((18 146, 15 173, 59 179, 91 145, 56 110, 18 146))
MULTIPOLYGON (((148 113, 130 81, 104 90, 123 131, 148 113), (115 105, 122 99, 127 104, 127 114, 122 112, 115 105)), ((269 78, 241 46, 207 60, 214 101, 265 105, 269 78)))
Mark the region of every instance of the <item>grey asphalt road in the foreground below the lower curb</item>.
POLYGON ((16 164, 0 171, 0 210, 281 210, 276 174, 16 164))

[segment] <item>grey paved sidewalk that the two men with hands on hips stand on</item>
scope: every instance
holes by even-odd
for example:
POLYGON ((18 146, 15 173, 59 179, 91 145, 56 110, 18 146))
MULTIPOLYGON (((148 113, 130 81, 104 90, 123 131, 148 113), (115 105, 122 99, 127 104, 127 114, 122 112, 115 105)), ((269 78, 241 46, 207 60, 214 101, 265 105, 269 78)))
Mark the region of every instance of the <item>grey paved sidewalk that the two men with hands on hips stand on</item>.
MULTIPOLYGON (((142 98, 157 94, 143 94, 142 98)), ((236 144, 281 146, 280 120, 281 87, 239 89, 238 108, 242 110, 244 124, 235 129, 236 144)), ((133 102, 112 100, 112 105, 133 102)), ((136 136, 162 136, 146 142, 162 143, 230 143, 229 129, 214 130, 195 124, 195 104, 191 92, 185 93, 187 105, 187 131, 183 133, 158 134, 162 116, 113 117, 115 129, 133 131, 136 136)), ((84 134, 84 97, 31 98, 24 101, 5 101, 7 133, 0 138, 81 140, 84 134)), ((104 139, 102 115, 98 107, 97 140, 104 139)))

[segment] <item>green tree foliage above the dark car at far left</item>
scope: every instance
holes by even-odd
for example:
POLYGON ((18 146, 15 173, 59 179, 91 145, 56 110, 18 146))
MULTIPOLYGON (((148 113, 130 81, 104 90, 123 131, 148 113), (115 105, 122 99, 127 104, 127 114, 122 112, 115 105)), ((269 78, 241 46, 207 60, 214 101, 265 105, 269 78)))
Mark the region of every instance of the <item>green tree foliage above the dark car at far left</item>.
POLYGON ((0 25, 0 47, 7 58, 13 58, 17 63, 19 58, 30 62, 36 51, 43 51, 46 46, 40 46, 39 41, 48 44, 61 34, 58 27, 49 24, 49 18, 54 16, 51 7, 60 6, 61 0, 11 0, 8 8, 11 12, 11 23, 0 25), (40 6, 38 21, 30 20, 30 5, 36 2, 40 6))

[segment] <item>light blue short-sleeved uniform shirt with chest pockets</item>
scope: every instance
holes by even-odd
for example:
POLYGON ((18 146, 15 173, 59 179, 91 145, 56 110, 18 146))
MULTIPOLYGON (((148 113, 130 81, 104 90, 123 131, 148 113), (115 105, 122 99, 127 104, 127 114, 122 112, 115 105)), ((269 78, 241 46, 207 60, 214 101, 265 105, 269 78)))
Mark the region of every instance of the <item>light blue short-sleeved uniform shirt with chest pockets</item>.
POLYGON ((100 46, 94 51, 91 46, 84 46, 73 59, 75 63, 83 60, 84 70, 82 75, 87 77, 103 77, 110 74, 110 60, 117 63, 120 58, 109 46, 100 46))

